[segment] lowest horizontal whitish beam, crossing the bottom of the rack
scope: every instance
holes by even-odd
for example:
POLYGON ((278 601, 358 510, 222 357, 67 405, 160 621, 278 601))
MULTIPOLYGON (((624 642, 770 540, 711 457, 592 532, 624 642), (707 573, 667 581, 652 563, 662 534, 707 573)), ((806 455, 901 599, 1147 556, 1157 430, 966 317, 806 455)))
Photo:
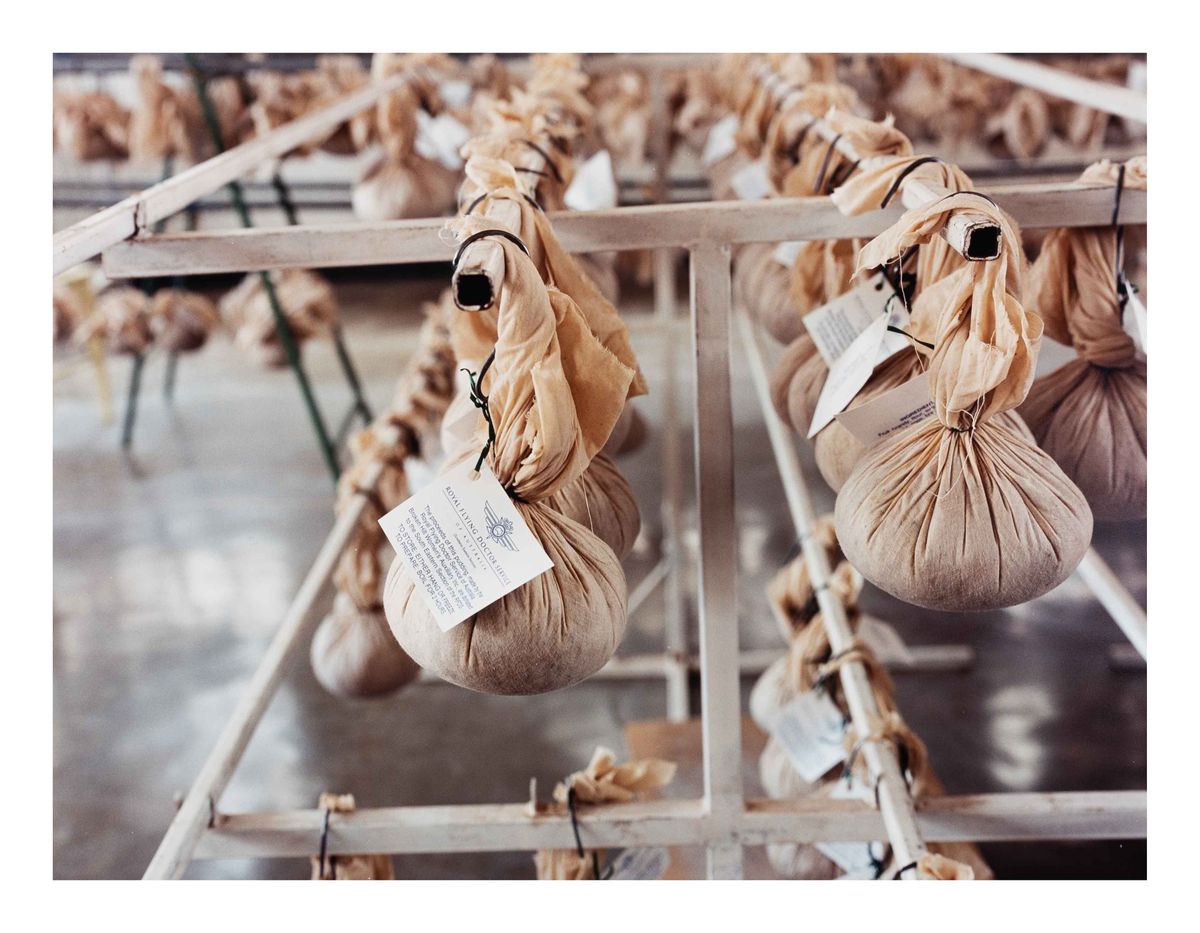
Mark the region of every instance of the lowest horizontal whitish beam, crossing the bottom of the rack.
MULTIPOLYGON (((319 809, 218 814, 197 859, 305 857, 317 851, 319 809)), ((581 808, 583 844, 598 848, 703 845, 728 827, 708 821, 702 800, 652 800, 581 808)), ((978 794, 917 802, 930 842, 1126 839, 1146 836, 1142 790, 1061 794, 978 794)), ((882 838, 883 820, 858 800, 749 800, 736 819, 743 845, 854 842, 882 838)), ((528 803, 382 807, 335 813, 326 850, 352 853, 520 851, 574 848, 560 812, 530 815, 528 803)))

